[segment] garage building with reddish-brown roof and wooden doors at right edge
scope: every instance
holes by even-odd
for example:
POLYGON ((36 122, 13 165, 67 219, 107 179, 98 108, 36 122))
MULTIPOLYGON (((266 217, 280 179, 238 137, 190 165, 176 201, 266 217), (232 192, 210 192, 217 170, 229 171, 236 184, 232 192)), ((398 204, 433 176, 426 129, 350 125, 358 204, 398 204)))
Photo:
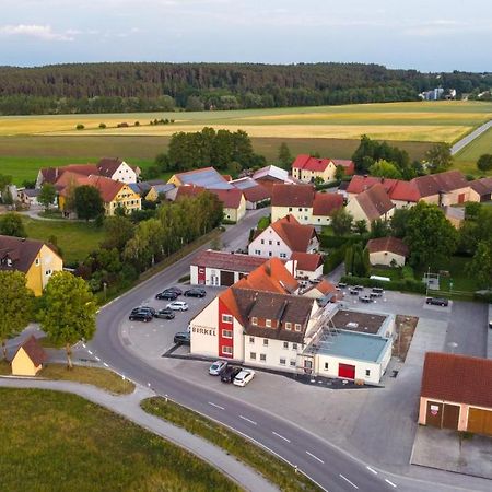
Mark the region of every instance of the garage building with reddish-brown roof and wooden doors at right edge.
POLYGON ((492 360, 427 352, 419 423, 492 435, 492 360))

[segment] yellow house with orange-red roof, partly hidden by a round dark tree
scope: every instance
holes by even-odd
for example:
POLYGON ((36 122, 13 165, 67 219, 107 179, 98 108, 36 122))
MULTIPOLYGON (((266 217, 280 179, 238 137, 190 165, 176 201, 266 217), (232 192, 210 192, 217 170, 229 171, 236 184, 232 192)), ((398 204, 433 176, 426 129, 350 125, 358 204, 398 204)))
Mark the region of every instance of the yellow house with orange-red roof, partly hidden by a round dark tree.
POLYGON ((89 185, 97 188, 104 202, 104 213, 107 216, 115 214, 118 208, 122 208, 126 213, 142 209, 140 195, 131 187, 121 181, 115 181, 103 176, 91 175, 74 178, 69 185, 59 189, 58 207, 65 214, 72 213, 68 209, 67 201, 74 187, 89 185))

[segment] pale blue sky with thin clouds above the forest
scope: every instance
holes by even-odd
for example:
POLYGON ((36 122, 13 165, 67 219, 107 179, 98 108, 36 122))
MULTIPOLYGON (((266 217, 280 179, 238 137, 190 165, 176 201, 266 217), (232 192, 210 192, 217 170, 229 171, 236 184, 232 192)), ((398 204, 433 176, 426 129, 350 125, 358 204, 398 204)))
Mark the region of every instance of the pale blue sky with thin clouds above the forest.
POLYGON ((89 61, 492 71, 492 1, 0 0, 0 66, 89 61))

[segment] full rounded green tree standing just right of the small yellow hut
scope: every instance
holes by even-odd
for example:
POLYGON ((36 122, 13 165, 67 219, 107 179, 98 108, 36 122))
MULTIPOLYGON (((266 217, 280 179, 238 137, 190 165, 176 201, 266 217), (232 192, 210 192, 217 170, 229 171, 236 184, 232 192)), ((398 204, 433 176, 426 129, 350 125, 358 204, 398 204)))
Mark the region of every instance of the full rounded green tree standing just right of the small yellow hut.
POLYGON ((95 333, 97 303, 87 283, 67 271, 55 272, 46 285, 44 308, 39 313, 42 329, 57 347, 65 347, 67 365, 72 364, 72 345, 91 340, 95 333))

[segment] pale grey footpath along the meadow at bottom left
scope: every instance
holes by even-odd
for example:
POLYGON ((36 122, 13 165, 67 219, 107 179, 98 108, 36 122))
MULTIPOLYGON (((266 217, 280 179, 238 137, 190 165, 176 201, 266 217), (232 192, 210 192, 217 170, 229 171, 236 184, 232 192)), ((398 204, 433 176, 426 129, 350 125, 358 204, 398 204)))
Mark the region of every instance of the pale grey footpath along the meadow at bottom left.
POLYGON ((239 462, 234 456, 229 455, 220 447, 208 441, 197 437, 184 429, 167 423, 154 415, 144 412, 140 408, 140 401, 144 398, 155 396, 145 387, 137 386, 131 395, 115 396, 94 386, 82 385, 70 382, 50 382, 37 379, 16 379, 0 377, 0 387, 3 388, 38 388, 52 389, 79 395, 94 403, 101 405, 110 411, 118 413, 136 424, 147 429, 154 434, 187 449, 203 461, 222 471, 243 489, 251 492, 278 492, 261 475, 239 462))

